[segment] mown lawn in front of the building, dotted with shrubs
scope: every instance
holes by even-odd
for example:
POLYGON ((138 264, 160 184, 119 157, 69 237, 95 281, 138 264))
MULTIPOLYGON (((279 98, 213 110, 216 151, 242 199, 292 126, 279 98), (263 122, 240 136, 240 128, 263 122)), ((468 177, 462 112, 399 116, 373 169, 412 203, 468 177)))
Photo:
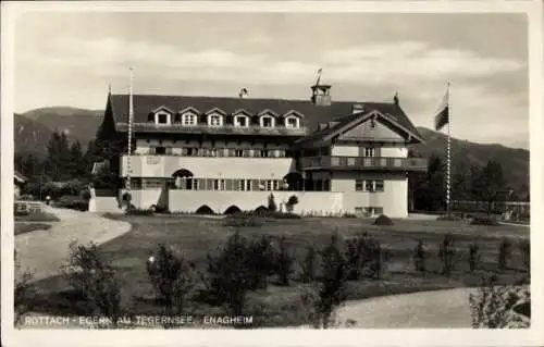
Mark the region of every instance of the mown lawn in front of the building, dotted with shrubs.
MULTIPOLYGON (((113 218, 113 216, 110 216, 113 218)), ((115 216, 133 224, 133 230, 102 246, 101 250, 119 269, 123 283, 124 307, 138 314, 161 312, 152 300, 153 292, 146 273, 146 259, 157 249, 159 243, 172 245, 183 255, 206 271, 207 255, 215 253, 218 247, 235 232, 235 227, 225 226, 221 219, 199 216, 115 216)), ((509 269, 499 275, 499 283, 514 284, 527 273, 523 271, 521 253, 517 247, 518 238, 528 238, 529 228, 516 225, 477 226, 466 222, 438 222, 397 220, 392 226, 372 225, 370 220, 308 218, 292 220, 268 220, 259 227, 242 227, 240 234, 247 237, 270 235, 285 236, 289 251, 298 262, 305 256, 306 248, 314 245, 322 248, 337 231, 344 237, 361 232, 380 240, 391 258, 385 263, 385 271, 379 281, 358 281, 348 284, 348 299, 362 299, 374 296, 432 290, 453 287, 478 286, 484 270, 496 270, 497 250, 500 237, 512 238, 512 258, 509 269), (440 273, 441 262, 437 257, 438 246, 445 234, 455 235, 458 250, 456 268, 449 277, 440 273), (413 271, 411 255, 418 240, 423 240, 430 250, 429 272, 425 276, 413 271), (482 253, 479 270, 469 272, 467 260, 468 246, 477 240, 482 253)), ((292 326, 307 323, 300 299, 308 284, 297 281, 300 272, 298 264, 292 285, 274 285, 271 277, 268 289, 250 293, 249 309, 254 322, 260 326, 292 326)), ((40 299, 35 301, 35 310, 47 313, 74 314, 76 306, 66 295, 66 284, 61 277, 51 277, 38 283, 40 299)), ((222 314, 223 309, 212 307, 201 300, 191 300, 189 309, 194 315, 222 314)))

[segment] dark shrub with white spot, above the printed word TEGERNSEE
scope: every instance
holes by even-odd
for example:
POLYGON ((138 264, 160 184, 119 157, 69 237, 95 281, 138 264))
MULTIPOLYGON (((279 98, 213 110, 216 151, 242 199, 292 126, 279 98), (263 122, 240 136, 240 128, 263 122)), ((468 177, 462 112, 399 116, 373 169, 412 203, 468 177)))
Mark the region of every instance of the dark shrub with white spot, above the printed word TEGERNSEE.
POLYGON ((148 259, 149 280, 168 315, 183 313, 187 297, 195 287, 194 267, 164 245, 159 245, 157 257, 148 259))

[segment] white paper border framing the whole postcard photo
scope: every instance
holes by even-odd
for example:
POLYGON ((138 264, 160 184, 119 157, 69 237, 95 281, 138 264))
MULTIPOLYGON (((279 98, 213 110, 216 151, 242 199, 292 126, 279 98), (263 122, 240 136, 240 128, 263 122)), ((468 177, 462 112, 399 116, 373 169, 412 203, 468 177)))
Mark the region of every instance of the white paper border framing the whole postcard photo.
MULTIPOLYGON (((2 345, 12 346, 542 346, 544 306, 542 252, 544 245, 544 122, 543 115, 543 4, 531 1, 220 1, 220 2, 2 2, 1 61, 1 173, 2 173, 2 345), (13 30, 17 14, 26 11, 131 12, 374 12, 374 13, 504 13, 529 15, 532 327, 523 331, 482 330, 260 330, 260 331, 15 331, 13 329, 13 30), (539 268, 539 270, 536 269, 539 268), (9 285, 11 284, 11 285, 9 285), (539 330, 537 327, 541 327, 539 330)), ((508 42, 505 42, 508 45, 508 42)))

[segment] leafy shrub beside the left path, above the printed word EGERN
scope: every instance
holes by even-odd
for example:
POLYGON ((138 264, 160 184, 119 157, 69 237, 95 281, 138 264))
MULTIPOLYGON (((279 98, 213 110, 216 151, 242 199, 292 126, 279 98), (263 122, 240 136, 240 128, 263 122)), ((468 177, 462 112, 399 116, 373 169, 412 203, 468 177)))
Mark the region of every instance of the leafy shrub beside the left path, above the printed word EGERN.
POLYGON ((70 245, 63 276, 84 300, 87 314, 101 314, 115 326, 121 317, 121 285, 115 269, 99 251, 97 245, 70 245))

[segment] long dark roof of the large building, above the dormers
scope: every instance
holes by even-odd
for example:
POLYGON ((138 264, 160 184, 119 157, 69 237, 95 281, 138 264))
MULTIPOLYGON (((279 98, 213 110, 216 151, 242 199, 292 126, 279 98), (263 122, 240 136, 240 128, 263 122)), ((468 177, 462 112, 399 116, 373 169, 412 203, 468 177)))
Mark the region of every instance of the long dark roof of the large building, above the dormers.
MULTIPOLYGON (((125 123, 126 114, 128 114, 128 95, 110 95, 109 98, 115 123, 125 123)), ((406 128, 416 139, 421 138, 421 135, 410 122, 403 109, 394 102, 333 100, 331 106, 316 106, 309 100, 135 95, 134 122, 146 123, 149 112, 161 106, 171 110, 183 110, 188 107, 195 108, 196 110, 211 110, 213 108, 219 108, 227 114, 245 110, 250 113, 250 115, 257 115, 267 109, 276 114, 285 114, 295 110, 305 114, 302 125, 311 131, 314 131, 318 128, 320 123, 326 123, 335 119, 339 119, 342 120, 341 123, 344 123, 351 117, 357 117, 357 114, 353 114, 353 106, 356 103, 363 107, 363 113, 376 110, 381 114, 387 115, 387 117, 395 121, 403 128, 406 128)), ((341 124, 336 126, 339 125, 341 124)), ((310 134, 309 136, 319 135, 310 134)))

